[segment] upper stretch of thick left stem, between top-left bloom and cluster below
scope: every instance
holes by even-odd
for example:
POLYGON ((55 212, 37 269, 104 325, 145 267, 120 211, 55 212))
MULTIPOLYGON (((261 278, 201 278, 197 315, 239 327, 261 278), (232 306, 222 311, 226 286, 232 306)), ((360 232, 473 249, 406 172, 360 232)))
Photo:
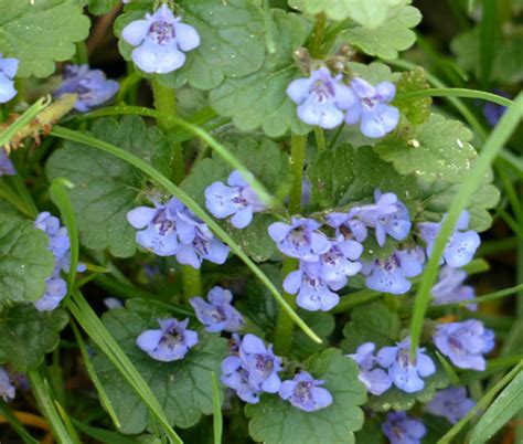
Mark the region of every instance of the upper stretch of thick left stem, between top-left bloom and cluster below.
MULTIPOLYGON (((152 81, 152 94, 154 96, 154 108, 158 110, 158 127, 163 133, 169 133, 177 126, 177 101, 174 91, 152 81)), ((172 181, 180 184, 185 176, 185 161, 181 144, 173 144, 172 156, 172 181)))

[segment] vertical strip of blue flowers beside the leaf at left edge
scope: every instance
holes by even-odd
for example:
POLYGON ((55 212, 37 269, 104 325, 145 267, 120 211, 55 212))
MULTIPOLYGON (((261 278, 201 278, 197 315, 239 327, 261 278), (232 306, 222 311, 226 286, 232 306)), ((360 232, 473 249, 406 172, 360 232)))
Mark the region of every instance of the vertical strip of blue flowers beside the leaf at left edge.
MULTIPOLYGON (((34 303, 34 306, 39 311, 52 311, 67 294, 67 285, 60 274, 70 271, 71 242, 66 228, 61 225, 58 218, 51 215, 47 211, 38 215, 34 226, 47 235, 47 249, 54 254, 55 261, 53 274, 45 281, 45 293, 34 303)), ((85 272, 85 269, 84 264, 78 264, 76 268, 79 273, 85 272)))

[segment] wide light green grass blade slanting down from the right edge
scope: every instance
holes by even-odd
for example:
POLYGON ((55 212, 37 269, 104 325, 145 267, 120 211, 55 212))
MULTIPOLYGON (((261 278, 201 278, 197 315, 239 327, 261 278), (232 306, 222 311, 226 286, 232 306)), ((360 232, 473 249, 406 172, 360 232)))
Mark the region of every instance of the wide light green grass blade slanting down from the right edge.
POLYGON ((483 149, 478 157, 473 169, 470 171, 467 179, 460 186, 458 192, 452 198, 447 213, 447 218, 441 223, 441 230, 434 244, 433 252, 428 260, 425 273, 423 275, 419 288, 414 304, 413 319, 410 321, 410 356, 414 357, 421 336, 421 329, 427 314, 427 308, 430 303, 430 290, 436 283, 439 269, 439 260, 444 253, 448 239, 452 234, 456 222, 458 221, 462 210, 466 208, 468 201, 478 189, 484 173, 489 169, 491 162, 501 150, 505 141, 512 135, 512 131, 519 125, 523 116, 523 93, 514 101, 514 104, 509 107, 503 115, 498 126, 492 131, 487 140, 483 149))

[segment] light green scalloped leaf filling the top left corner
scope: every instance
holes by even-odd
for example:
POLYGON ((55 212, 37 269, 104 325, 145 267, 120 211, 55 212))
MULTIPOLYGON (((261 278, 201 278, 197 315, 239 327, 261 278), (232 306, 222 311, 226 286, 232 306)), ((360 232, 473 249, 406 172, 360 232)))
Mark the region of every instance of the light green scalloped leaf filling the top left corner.
POLYGON ((54 62, 75 53, 74 42, 87 38, 89 19, 77 0, 0 0, 0 47, 4 57, 20 60, 17 75, 46 77, 54 62))

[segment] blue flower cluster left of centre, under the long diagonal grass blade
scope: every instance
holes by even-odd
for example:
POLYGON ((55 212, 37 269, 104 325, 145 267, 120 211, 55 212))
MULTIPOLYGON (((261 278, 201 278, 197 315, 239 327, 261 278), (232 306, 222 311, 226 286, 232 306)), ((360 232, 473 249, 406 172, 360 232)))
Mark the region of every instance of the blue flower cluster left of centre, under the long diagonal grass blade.
POLYGON ((177 256, 180 264, 200 268, 203 260, 223 264, 228 256, 224 245, 182 202, 171 198, 154 208, 139 207, 127 213, 129 223, 139 231, 136 242, 159 256, 177 256))

